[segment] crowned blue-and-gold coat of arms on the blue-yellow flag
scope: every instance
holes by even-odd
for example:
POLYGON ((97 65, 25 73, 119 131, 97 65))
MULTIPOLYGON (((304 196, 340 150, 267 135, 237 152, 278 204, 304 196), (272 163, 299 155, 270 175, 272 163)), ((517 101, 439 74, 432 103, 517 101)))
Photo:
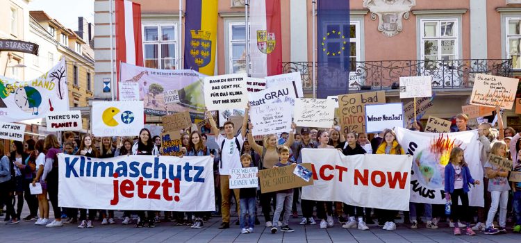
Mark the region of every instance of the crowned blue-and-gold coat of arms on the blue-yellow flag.
POLYGON ((197 67, 204 67, 212 59, 212 41, 210 31, 190 30, 192 40, 190 41, 190 56, 192 56, 197 67))

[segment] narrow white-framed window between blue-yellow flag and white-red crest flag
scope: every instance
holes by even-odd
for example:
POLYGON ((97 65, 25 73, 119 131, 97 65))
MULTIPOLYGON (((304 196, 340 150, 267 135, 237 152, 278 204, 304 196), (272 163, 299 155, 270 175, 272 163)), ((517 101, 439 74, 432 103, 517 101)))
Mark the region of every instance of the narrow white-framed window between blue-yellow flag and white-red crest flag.
POLYGON ((246 72, 246 27, 245 23, 229 24, 229 74, 246 72))

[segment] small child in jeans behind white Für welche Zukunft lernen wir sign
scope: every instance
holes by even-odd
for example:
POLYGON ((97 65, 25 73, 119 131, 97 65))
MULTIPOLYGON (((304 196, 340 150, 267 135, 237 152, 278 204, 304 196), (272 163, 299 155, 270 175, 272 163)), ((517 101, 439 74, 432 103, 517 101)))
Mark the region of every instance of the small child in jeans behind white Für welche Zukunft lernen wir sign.
MULTIPOLYGON (((240 156, 240 163, 242 168, 251 166, 251 156, 247 153, 240 156)), ((254 221, 255 221, 255 205, 256 205, 256 193, 257 188, 240 188, 239 201, 240 201, 240 233, 254 233, 254 221), (245 226, 246 213, 248 213, 248 228, 245 226)))

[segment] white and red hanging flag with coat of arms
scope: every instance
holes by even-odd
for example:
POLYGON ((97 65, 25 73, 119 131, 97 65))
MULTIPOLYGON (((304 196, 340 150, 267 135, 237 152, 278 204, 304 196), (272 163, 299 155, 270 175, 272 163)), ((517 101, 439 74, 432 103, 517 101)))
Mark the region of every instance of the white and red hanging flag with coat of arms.
POLYGON ((251 76, 282 74, 281 0, 250 0, 251 76))

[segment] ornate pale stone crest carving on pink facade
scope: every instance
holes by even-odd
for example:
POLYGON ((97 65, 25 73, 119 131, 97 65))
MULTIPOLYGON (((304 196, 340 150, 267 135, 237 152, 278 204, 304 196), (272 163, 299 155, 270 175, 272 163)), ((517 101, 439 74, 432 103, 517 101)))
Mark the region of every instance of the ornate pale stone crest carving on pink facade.
POLYGON ((388 37, 402 32, 402 17, 409 18, 409 11, 416 0, 364 0, 363 7, 371 11, 371 19, 379 19, 378 31, 388 37))

